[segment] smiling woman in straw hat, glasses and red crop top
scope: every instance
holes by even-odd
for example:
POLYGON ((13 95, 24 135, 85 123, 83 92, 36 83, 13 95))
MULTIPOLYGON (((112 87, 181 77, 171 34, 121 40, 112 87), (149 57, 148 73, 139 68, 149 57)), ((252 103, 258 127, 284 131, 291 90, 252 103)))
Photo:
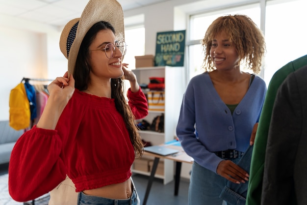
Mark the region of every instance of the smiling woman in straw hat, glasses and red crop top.
POLYGON ((138 204, 130 167, 143 151, 135 118, 148 114, 135 75, 123 67, 124 15, 116 0, 90 0, 62 31, 68 72, 49 86, 37 123, 16 143, 9 164, 9 192, 33 200, 66 175, 78 205, 138 204), (122 76, 130 82, 128 103, 122 76))

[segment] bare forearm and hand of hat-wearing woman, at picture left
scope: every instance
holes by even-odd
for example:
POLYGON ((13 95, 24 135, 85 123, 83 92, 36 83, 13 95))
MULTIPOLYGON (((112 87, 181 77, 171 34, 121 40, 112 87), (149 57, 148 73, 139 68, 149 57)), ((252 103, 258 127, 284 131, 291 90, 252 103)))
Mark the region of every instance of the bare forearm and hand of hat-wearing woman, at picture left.
POLYGON ((75 91, 75 79, 66 72, 63 77, 57 77, 48 86, 49 98, 40 117, 37 127, 55 129, 58 119, 75 91))

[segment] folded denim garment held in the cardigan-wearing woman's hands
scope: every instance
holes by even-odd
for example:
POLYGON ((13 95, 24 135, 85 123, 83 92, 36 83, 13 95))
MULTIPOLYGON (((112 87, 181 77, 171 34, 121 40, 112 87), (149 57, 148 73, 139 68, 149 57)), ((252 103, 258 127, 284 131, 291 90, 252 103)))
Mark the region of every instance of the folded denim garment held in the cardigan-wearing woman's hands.
MULTIPOLYGON (((237 163, 238 166, 248 173, 250 172, 253 147, 254 146, 249 146, 240 161, 237 163)), ((247 188, 247 182, 236 184, 228 181, 227 185, 221 192, 220 198, 228 202, 230 205, 245 205, 247 188)))

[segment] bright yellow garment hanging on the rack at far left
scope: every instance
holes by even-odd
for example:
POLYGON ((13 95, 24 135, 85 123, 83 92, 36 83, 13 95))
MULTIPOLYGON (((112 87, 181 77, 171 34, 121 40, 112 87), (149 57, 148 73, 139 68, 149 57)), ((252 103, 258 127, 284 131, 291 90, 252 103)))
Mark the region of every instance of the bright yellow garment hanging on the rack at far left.
POLYGON ((15 130, 26 129, 30 125, 30 104, 23 83, 18 84, 10 92, 9 124, 15 130))

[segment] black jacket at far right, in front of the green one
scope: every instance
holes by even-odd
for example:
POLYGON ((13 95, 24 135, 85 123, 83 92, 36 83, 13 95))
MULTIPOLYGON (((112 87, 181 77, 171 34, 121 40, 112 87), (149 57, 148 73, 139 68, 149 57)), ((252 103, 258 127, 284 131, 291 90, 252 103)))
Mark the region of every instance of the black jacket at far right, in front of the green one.
POLYGON ((307 205, 307 66, 278 90, 269 128, 261 205, 307 205))

